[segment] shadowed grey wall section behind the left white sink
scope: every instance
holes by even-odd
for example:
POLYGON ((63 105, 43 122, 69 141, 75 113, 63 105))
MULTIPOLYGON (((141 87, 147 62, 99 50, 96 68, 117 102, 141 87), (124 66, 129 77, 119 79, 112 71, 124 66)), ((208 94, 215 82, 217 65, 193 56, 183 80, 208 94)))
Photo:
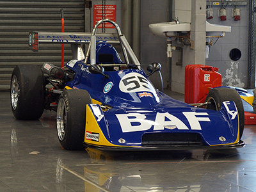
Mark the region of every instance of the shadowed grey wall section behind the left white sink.
MULTIPOLYGON (((141 0, 141 65, 146 70, 150 63, 161 63, 164 87, 168 84, 170 70, 170 67, 167 65, 166 39, 153 35, 148 25, 170 20, 169 10, 168 0, 141 0)), ((152 81, 156 88, 161 88, 158 73, 150 76, 150 81, 152 81)))

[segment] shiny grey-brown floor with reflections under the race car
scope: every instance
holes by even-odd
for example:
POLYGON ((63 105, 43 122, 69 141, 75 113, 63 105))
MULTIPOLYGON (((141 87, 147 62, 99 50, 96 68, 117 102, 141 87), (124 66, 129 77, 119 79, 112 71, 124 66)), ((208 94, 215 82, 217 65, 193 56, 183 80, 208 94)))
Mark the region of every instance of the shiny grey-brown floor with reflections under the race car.
POLYGON ((0 106, 0 191, 256 191, 256 125, 246 125, 247 145, 235 150, 69 151, 54 112, 16 120, 8 92, 0 106))

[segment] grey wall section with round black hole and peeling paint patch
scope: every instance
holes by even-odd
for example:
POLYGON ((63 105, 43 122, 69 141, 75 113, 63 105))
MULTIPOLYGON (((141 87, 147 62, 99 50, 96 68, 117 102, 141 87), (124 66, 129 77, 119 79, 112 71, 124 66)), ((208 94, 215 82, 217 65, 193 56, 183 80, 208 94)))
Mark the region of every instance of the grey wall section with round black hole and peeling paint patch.
MULTIPOLYGON (((205 60, 205 65, 218 67, 222 75, 224 86, 237 86, 246 88, 248 81, 248 4, 238 6, 240 8, 241 20, 234 20, 231 16, 233 6, 228 5, 227 20, 221 21, 218 17, 218 9, 221 6, 212 6, 213 19, 207 19, 212 24, 231 26, 231 33, 225 33, 215 45, 210 49, 209 58, 205 60), (230 59, 232 49, 241 51, 241 58, 237 61, 230 59)), ((215 40, 214 40, 215 42, 215 40)))

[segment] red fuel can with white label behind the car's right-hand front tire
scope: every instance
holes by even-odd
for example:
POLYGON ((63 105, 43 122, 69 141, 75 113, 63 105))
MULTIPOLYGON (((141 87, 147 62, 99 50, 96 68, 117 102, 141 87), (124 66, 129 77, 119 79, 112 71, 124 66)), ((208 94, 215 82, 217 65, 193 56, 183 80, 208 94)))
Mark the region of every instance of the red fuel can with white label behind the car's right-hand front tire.
POLYGON ((185 68, 185 102, 202 103, 209 93, 208 88, 221 86, 218 68, 207 65, 187 65, 185 68))

